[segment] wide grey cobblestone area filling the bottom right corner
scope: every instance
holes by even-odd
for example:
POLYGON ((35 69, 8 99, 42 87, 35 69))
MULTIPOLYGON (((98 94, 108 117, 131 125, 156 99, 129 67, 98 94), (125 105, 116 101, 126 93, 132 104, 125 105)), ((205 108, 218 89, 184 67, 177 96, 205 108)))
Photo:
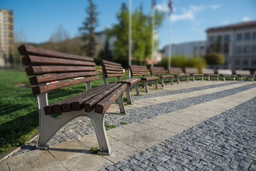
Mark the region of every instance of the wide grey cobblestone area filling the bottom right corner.
POLYGON ((103 170, 256 170, 256 98, 103 170))

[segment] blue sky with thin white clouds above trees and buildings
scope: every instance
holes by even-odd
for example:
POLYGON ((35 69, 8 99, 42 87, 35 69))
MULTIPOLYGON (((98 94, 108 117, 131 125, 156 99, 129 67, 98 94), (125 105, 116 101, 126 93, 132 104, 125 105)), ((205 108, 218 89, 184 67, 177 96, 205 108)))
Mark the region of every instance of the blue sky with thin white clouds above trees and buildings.
MULTIPOLYGON (((93 0, 98 6, 99 26, 117 23, 116 13, 128 0, 93 0)), ((151 0, 133 0, 133 10, 143 4, 145 13, 151 14, 151 0)), ((156 8, 166 11, 163 26, 158 29, 158 48, 169 42, 168 0, 157 0, 156 8)), ((23 32, 27 42, 48 41, 51 34, 62 26, 69 36, 79 34, 78 27, 86 17, 86 0, 0 0, 0 8, 14 10, 14 32, 23 32)), ((200 41, 206 39, 205 30, 242 21, 256 20, 256 0, 173 0, 171 15, 171 42, 200 41)))

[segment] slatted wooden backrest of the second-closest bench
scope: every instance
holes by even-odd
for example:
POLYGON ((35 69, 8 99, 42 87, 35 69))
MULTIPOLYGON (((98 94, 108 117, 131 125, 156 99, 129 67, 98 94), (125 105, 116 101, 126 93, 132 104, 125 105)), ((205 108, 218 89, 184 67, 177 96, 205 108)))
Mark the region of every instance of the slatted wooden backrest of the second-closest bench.
POLYGON ((102 60, 101 66, 105 78, 125 76, 123 67, 119 63, 102 60))

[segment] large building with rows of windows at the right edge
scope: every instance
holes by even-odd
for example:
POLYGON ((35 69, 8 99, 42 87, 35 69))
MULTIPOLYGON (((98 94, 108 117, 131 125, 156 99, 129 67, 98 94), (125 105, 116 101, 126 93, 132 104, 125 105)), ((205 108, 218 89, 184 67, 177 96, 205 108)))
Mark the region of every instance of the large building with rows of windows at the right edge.
POLYGON ((256 70, 256 21, 208 28, 207 46, 220 41, 225 63, 217 68, 256 70))

